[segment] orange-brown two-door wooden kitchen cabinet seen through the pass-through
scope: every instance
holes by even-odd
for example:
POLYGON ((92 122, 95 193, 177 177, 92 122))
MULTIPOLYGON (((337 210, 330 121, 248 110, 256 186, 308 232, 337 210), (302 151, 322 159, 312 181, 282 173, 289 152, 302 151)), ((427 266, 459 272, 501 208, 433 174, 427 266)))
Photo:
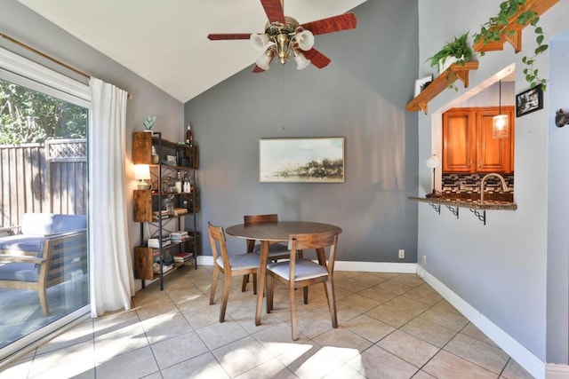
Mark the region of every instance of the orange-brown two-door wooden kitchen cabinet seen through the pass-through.
POLYGON ((514 107, 509 137, 492 137, 493 116, 499 107, 453 108, 443 114, 443 172, 504 172, 514 170, 514 107))

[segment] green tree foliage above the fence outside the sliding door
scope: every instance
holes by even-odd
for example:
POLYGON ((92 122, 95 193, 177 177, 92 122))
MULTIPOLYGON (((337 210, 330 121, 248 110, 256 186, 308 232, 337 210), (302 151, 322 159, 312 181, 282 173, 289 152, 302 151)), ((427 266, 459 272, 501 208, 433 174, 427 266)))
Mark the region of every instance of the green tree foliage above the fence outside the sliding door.
POLYGON ((87 109, 0 80, 0 145, 85 138, 87 109))

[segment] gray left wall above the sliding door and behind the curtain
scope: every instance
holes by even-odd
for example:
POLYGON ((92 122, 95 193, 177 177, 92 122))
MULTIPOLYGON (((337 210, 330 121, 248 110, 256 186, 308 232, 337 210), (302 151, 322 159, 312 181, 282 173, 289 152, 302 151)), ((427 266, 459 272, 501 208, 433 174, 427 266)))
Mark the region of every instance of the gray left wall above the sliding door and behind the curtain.
MULTIPOLYGON (((42 51, 55 59, 68 64, 71 67, 92 75, 101 80, 116 84, 116 86, 128 91, 132 98, 128 100, 126 112, 126 173, 125 182, 126 193, 132 193, 135 189, 133 180, 131 152, 133 130, 143 130, 143 119, 148 114, 156 114, 155 130, 164 131, 165 138, 172 138, 177 141, 181 138, 183 130, 183 104, 179 100, 172 98, 156 88, 151 83, 135 75, 132 71, 119 65, 116 61, 109 59, 99 51, 82 43, 73 36, 69 36, 52 22, 40 17, 36 12, 30 11, 26 6, 16 0, 2 0, 2 11, 0 12, 0 33, 16 38, 22 43, 42 51)), ((74 75, 59 66, 50 64, 49 61, 41 59, 34 53, 29 53, 18 49, 12 43, 6 43, 0 39, 0 45, 7 50, 11 50, 26 56, 44 66, 52 67, 64 75, 75 77, 86 83, 82 76, 74 75)), ((95 160, 96 157, 91 157, 95 160)), ((127 209, 132 209, 132 196, 127 199, 127 209)), ((132 221, 132 212, 128 212, 132 221)), ((93 227, 96 227, 93 226, 93 227)), ((131 245, 139 243, 138 224, 130 224, 131 245)), ((132 251, 132 250, 131 250, 132 251)))

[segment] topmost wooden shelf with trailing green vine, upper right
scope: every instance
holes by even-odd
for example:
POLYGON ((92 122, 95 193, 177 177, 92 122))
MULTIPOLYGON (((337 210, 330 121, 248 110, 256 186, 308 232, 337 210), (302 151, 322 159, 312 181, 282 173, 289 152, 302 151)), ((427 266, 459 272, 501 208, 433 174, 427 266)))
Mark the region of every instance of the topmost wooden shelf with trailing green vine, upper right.
POLYGON ((484 55, 485 51, 501 50, 503 44, 508 41, 514 45, 517 51, 521 50, 521 30, 519 26, 526 27, 531 25, 535 33, 536 47, 532 56, 524 56, 522 62, 524 68, 525 81, 533 88, 541 84, 541 89, 545 91, 547 80, 539 76, 539 70, 533 67, 535 59, 540 54, 548 50, 548 44, 544 43, 543 29, 538 26, 540 15, 538 12, 545 12, 549 7, 556 3, 552 0, 506 0, 500 4, 500 11, 484 24, 480 31, 474 35, 475 49, 484 55), (536 7, 539 7, 536 8, 536 7))

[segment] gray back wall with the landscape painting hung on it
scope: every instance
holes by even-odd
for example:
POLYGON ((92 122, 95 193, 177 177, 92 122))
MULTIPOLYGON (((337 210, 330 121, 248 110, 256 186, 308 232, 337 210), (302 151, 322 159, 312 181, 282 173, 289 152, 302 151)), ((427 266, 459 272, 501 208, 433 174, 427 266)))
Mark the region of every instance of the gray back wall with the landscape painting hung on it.
POLYGON ((407 196, 417 187, 417 115, 405 104, 417 71, 417 0, 375 0, 354 12, 356 29, 316 38, 328 67, 249 67, 188 101, 203 233, 207 221, 228 226, 275 212, 341 225, 340 260, 416 262, 417 204, 407 196), (345 183, 259 183, 259 138, 298 137, 345 137, 345 183))

